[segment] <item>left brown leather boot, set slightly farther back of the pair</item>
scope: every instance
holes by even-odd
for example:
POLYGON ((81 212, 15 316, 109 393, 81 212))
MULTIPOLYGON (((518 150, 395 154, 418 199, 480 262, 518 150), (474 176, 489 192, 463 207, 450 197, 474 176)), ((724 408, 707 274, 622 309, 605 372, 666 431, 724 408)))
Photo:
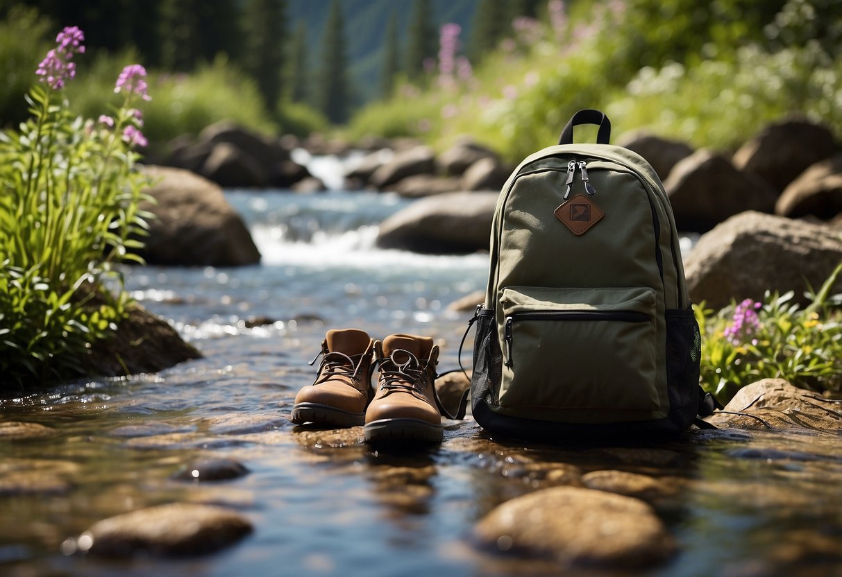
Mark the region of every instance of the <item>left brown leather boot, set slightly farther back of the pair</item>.
MULTIPOLYGON (((338 427, 362 425, 373 392, 374 341, 365 331, 334 329, 328 331, 319 354, 323 357, 318 376, 311 386, 298 391, 292 422, 338 427)), ((315 362, 314 358, 312 363, 315 362)))

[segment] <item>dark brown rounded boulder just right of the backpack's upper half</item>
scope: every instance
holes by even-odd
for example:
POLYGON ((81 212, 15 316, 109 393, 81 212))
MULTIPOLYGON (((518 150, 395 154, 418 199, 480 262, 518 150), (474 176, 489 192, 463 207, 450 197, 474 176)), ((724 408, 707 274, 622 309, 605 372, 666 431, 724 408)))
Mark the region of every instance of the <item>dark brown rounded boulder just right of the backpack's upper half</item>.
POLYGON ((704 232, 746 210, 771 213, 777 193, 769 184, 708 150, 676 164, 663 183, 681 231, 704 232))

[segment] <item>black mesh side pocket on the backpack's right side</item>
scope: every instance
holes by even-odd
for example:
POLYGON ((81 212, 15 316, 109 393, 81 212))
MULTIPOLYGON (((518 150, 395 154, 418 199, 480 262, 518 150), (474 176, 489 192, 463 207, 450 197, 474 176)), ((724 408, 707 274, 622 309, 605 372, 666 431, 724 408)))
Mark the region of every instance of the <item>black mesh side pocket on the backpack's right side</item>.
POLYGON ((699 409, 701 335, 692 309, 667 310, 666 319, 670 419, 689 425, 699 409))

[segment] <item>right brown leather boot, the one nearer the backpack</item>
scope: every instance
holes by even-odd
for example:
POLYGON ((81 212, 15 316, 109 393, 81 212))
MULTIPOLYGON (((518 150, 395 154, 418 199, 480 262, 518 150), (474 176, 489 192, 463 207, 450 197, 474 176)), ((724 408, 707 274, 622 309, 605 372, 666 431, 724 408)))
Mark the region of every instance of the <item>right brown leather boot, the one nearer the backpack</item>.
POLYGON ((365 442, 441 442, 441 403, 434 387, 439 347, 429 336, 392 335, 375 348, 380 378, 365 411, 365 442))

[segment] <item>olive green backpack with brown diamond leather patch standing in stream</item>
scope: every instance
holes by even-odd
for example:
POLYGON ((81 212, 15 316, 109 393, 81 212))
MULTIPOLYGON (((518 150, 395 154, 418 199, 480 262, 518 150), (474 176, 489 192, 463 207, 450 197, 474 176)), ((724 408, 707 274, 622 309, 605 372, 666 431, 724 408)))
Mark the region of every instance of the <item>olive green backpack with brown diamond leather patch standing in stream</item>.
POLYGON ((580 110, 528 156, 494 210, 472 412, 484 429, 546 440, 678 432, 713 410, 672 207, 647 161, 580 110), (573 126, 598 124, 597 144, 573 126))

